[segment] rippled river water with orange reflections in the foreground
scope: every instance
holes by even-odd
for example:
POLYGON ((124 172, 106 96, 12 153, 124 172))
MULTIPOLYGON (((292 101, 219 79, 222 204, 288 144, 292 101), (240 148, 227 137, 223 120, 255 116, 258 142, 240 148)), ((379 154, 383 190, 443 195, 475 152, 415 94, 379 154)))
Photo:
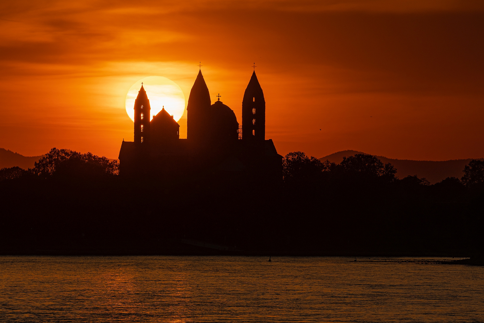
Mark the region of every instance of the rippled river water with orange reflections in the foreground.
POLYGON ((0 257, 1 322, 484 322, 484 268, 414 258, 0 257))

